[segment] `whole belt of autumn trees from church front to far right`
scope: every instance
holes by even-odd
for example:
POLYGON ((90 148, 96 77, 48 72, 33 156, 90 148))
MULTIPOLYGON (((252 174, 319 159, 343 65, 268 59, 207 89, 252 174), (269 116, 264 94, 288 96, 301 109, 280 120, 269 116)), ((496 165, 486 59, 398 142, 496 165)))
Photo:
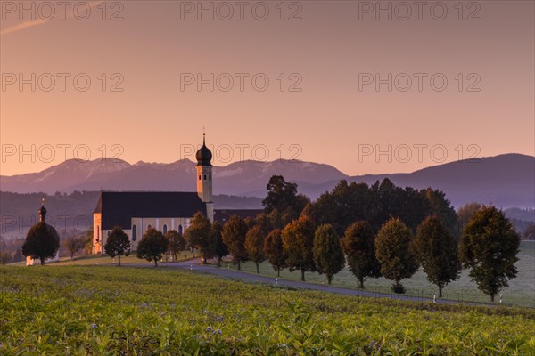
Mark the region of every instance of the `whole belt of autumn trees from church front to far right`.
MULTIPOLYGON (((144 232, 136 255, 158 265, 163 255, 185 249, 202 256, 202 263, 230 255, 241 263, 268 261, 280 271, 324 274, 330 284, 347 265, 364 288, 368 278, 392 280, 392 290, 404 293, 402 279, 422 267, 427 279, 442 289, 462 268, 482 292, 494 296, 507 287, 517 270, 520 237, 505 214, 494 206, 469 204, 458 214, 440 190, 400 188, 388 179, 366 183, 341 181, 316 201, 298 194, 297 184, 272 176, 262 201, 264 213, 255 218, 231 216, 214 222, 197 213, 184 235, 153 228, 144 232)), ((104 251, 128 255, 128 235, 118 226, 104 251)))

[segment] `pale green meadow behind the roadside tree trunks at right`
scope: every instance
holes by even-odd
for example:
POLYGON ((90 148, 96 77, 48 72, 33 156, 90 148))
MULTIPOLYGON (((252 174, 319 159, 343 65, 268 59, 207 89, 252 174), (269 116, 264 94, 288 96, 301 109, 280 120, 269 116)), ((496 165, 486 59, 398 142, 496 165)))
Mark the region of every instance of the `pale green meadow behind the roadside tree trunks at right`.
MULTIPOLYGON (((503 303, 507 305, 528 306, 535 308, 535 242, 522 241, 519 253, 520 260, 516 263, 518 276, 509 282, 509 287, 502 291, 503 303)), ((225 268, 236 268, 232 263, 226 262, 225 268)), ((254 263, 242 263, 242 271, 256 273, 254 263)), ((266 262, 262 263, 259 268, 260 274, 276 278, 276 271, 273 271, 271 265, 266 262)), ((300 280, 300 271, 290 272, 281 271, 281 278, 290 280, 300 280)), ((323 275, 308 272, 305 278, 310 283, 323 284, 326 279, 323 275)), ((433 295, 439 295, 438 288, 432 285, 423 271, 417 271, 410 279, 403 279, 401 283, 407 287, 407 295, 424 296, 432 298, 433 295)), ((364 285, 366 290, 377 293, 391 293, 391 280, 389 279, 366 279, 364 285)), ((358 282, 353 274, 344 269, 336 274, 333 279, 333 286, 357 288, 358 282)), ((468 276, 468 271, 462 271, 461 276, 456 281, 450 283, 443 290, 444 299, 490 303, 490 296, 483 294, 475 283, 468 276)), ((496 302, 498 303, 499 296, 496 302)))

